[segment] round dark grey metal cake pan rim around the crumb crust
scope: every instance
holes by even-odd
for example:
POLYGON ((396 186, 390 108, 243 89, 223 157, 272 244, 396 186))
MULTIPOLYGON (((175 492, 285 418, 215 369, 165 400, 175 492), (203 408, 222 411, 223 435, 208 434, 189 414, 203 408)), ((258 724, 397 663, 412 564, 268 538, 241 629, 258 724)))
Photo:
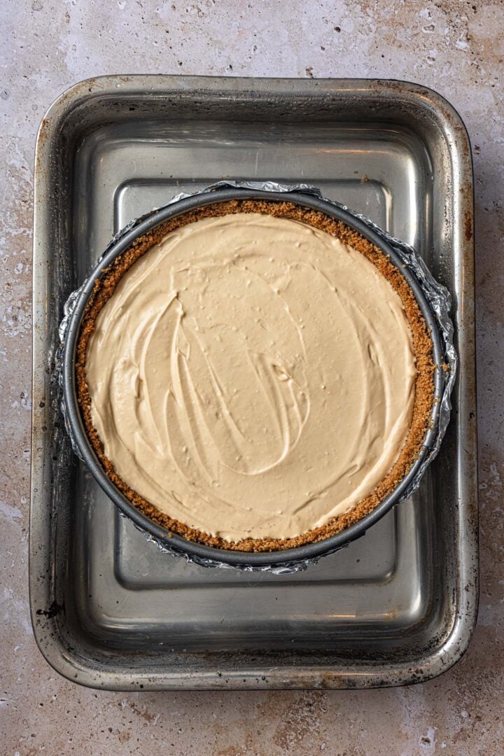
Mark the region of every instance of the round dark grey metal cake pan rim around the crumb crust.
POLYGON ((425 466, 425 460, 431 449, 434 447, 438 436, 439 407, 444 392, 444 377, 441 369, 443 361, 444 349, 438 328, 438 321, 436 320, 431 305, 419 284, 419 280, 417 280, 413 271, 411 271, 408 266, 404 265, 404 261, 400 259, 394 246, 384 240, 382 234, 379 234, 373 225, 366 224, 365 220, 357 218, 354 214, 348 212, 347 209, 330 203, 327 200, 323 200, 323 198, 316 195, 290 191, 285 193, 260 191, 240 187, 226 187, 218 188, 217 190, 208 193, 195 194, 192 197, 178 200, 178 202, 171 203, 162 209, 153 211, 146 218, 141 219, 141 221, 134 225, 129 231, 126 231, 124 234, 119 234, 118 237, 116 237, 116 240, 112 243, 109 249, 107 249, 103 259, 100 260, 99 264, 82 287, 79 299, 70 315, 63 351, 63 401, 65 405, 66 422, 70 424, 70 432, 73 436, 73 441, 79 449, 82 459, 85 461, 91 474, 94 476, 94 479, 96 479, 101 488, 104 489, 107 496, 116 503, 119 510, 131 519, 138 528, 148 534, 153 541, 156 541, 160 547, 169 550, 172 553, 186 556, 190 561, 206 566, 236 567, 237 569, 261 571, 274 569, 275 572, 282 572, 283 567, 285 567, 287 572, 292 569, 300 569, 299 565, 308 565, 309 562, 317 560, 321 556, 333 553, 339 548, 349 544, 351 541, 354 541, 356 538, 359 538, 366 532, 367 528, 388 513, 388 511, 391 510, 391 507, 394 507, 394 504, 404 496, 405 491, 408 490, 413 480, 418 477, 419 472, 422 470, 422 466, 425 466), (436 365, 431 424, 426 432, 421 454, 419 454, 418 459, 411 467, 407 476, 399 485, 397 485, 397 488, 395 488, 394 491, 392 491, 391 494, 389 494, 388 497, 386 497, 371 513, 363 517, 359 522, 346 528, 344 531, 333 535, 331 538, 326 538, 323 541, 307 544, 295 549, 261 553, 217 549, 204 546, 203 544, 197 544, 193 541, 188 541, 186 538, 182 538, 180 535, 173 534, 165 528, 162 528, 161 525, 157 525, 156 522, 153 522, 136 509, 107 477, 90 442, 88 441, 88 436, 85 432, 85 427, 79 410, 79 404, 77 402, 75 376, 76 345, 79 339, 82 316, 88 303, 88 299, 94 290, 95 281, 101 277, 103 271, 109 267, 111 262, 124 253, 125 250, 131 246, 131 243, 138 239, 138 237, 143 236, 148 231, 152 231, 153 228, 156 228, 157 225, 165 222, 169 218, 174 218, 177 215, 182 215, 184 212, 204 205, 223 202, 225 200, 244 198, 268 200, 270 202, 288 201, 302 207, 320 210, 320 212, 324 212, 326 215, 330 215, 332 218, 344 222, 371 243, 378 246, 379 249, 382 249, 382 252, 391 259, 391 262, 393 262, 394 265, 396 265, 400 274, 405 277, 407 283, 410 284, 410 287, 413 290, 416 301, 419 304, 423 317, 425 318, 425 323, 431 334, 433 358, 434 364, 436 365), (298 565, 297 568, 296 565, 298 565))

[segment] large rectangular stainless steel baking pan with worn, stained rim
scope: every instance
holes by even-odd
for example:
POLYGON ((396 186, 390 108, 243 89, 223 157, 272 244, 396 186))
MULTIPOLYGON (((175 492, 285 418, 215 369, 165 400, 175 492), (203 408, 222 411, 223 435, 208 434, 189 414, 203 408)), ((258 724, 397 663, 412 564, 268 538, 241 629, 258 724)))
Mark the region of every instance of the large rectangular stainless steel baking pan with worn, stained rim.
POLYGON ((113 76, 51 106, 36 150, 30 596, 57 671, 116 689, 364 687, 457 661, 478 595, 472 218, 462 121, 405 82, 113 76), (297 575, 159 553, 60 421, 69 293, 131 218, 224 177, 320 186, 413 245, 453 295, 460 370, 438 459, 364 538, 297 575))

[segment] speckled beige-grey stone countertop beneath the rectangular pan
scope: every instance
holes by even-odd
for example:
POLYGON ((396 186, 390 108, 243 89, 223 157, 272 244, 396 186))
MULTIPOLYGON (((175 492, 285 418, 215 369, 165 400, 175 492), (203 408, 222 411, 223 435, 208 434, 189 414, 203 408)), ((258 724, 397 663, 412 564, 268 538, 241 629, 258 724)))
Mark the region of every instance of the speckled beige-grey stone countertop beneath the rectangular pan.
POLYGON ((5 0, 0 20, 2 753, 504 752, 504 2, 5 0), (467 654, 437 680, 125 695, 63 680, 36 648, 27 595, 33 148, 56 95, 104 73, 409 79, 465 120, 475 158, 481 607, 467 654))

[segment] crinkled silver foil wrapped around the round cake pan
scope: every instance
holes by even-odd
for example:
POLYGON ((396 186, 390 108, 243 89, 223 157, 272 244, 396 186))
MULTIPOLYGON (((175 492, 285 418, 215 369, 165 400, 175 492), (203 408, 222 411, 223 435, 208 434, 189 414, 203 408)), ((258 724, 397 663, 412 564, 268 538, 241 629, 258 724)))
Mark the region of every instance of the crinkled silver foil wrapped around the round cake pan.
MULTIPOLYGON (((400 498, 397 499, 397 502, 394 505, 397 506, 398 503, 409 498, 411 494, 413 494, 413 492, 416 491, 416 489, 419 487, 420 480, 422 479, 425 469, 438 454, 448 423, 450 422, 450 411, 452 406, 450 395, 455 383, 457 368, 457 355, 455 346, 453 345, 453 323, 450 318, 450 292, 444 286, 441 286, 441 283, 438 283, 438 281, 434 279, 431 272, 425 265, 425 262, 416 254, 412 246, 404 243, 399 239, 391 237, 390 234, 387 234, 382 230, 382 228, 379 228, 379 226, 374 224, 369 220, 369 218, 366 218, 364 215, 360 215, 360 213, 354 212, 347 206, 342 205, 341 203, 337 203, 334 200, 327 200, 326 197, 323 197, 323 195, 321 194, 320 189, 317 189, 317 187, 311 186, 310 184, 277 184, 275 181, 218 181, 217 183, 206 187, 206 189, 194 192, 193 194, 177 194, 175 197, 173 197, 172 200, 169 201, 169 203, 166 204, 166 206, 172 205, 179 200, 187 199, 187 197, 194 197, 196 194, 209 194, 216 189, 223 188, 242 188, 258 191, 282 192, 285 194, 289 194, 289 192, 295 192, 296 194, 310 194, 314 197, 319 197, 326 203, 340 207, 348 212, 349 215, 353 215, 354 218, 358 218, 360 221, 364 222, 366 226, 368 226, 368 228, 372 229, 375 234, 377 234, 380 238, 382 238, 382 240, 384 240, 394 248, 394 251, 400 257, 400 259, 404 263, 404 266, 409 268, 413 275, 416 277, 416 280, 418 280, 426 299, 431 305, 434 318, 438 324, 441 343, 444 348, 444 362, 446 364, 446 367, 444 370, 442 370, 444 386, 440 398, 437 435, 434 438, 434 442, 431 445, 431 448, 429 448, 428 450, 428 454, 426 455, 425 460, 423 461, 422 465, 419 466, 419 469, 416 472, 416 476, 412 479, 410 485, 400 496, 400 498)), ((286 199, 288 198, 286 197, 286 199)), ((132 228, 135 228, 135 226, 139 225, 142 221, 145 220, 145 218, 148 218, 149 215, 152 214, 152 212, 157 212, 157 210, 159 209, 160 208, 154 208, 151 212, 148 212, 146 215, 142 215, 141 218, 135 218, 135 220, 128 223, 125 228, 122 228, 122 230, 119 231, 119 233, 116 234, 116 236, 113 237, 113 239, 110 241, 107 249, 105 249, 104 251, 104 254, 100 257, 100 260, 107 254, 108 250, 113 246, 113 244, 115 244, 124 236, 124 234, 128 233, 128 231, 131 231, 132 228)), ((82 288, 85 286, 85 283, 86 281, 82 284, 81 287, 79 287, 79 289, 70 294, 63 308, 63 320, 60 323, 59 329, 60 347, 57 350, 56 355, 56 370, 60 388, 63 385, 63 352, 65 349, 65 339, 66 333, 68 331, 68 324, 70 322, 70 318, 72 316, 76 302, 79 299, 79 294, 81 293, 82 288)), ((75 438, 73 437, 72 428, 66 417, 65 404, 63 401, 62 393, 60 395, 60 404, 61 411, 65 419, 66 431, 70 436, 73 451, 76 456, 82 460, 79 448, 77 447, 75 438)), ((127 518, 125 514, 121 513, 121 515, 127 518)), ((322 556, 328 556, 330 553, 334 553, 335 551, 343 548, 342 546, 339 546, 331 551, 324 553, 321 556, 310 559, 298 559, 296 561, 283 562, 281 564, 275 564, 274 562, 272 562, 269 565, 252 565, 246 563, 240 565, 230 565, 227 562, 219 562, 216 559, 203 559, 202 557, 193 554, 187 554, 184 551, 178 550, 175 545, 171 547, 165 542, 161 543, 156 538, 154 538, 152 534, 147 533, 147 531, 144 531, 143 528, 140 528, 136 524, 135 527, 140 530, 142 534, 144 534, 145 538, 147 538, 147 541, 152 541, 153 544, 156 544, 159 550, 164 553, 169 553, 172 556, 183 556, 187 560, 187 562, 193 562, 193 564, 203 567, 237 569, 242 572, 271 572, 274 575, 292 574, 293 572, 300 572, 301 570, 307 569, 309 565, 318 562, 319 559, 322 558, 322 556)))

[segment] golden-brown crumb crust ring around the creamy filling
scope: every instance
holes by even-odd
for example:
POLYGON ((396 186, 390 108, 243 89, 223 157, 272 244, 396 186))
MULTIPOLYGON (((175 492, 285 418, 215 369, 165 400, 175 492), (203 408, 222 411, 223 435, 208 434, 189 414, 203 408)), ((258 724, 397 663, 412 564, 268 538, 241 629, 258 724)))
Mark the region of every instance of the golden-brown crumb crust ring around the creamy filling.
POLYGON ((337 221, 334 218, 325 215, 323 212, 299 207, 289 202, 277 202, 273 200, 228 200, 226 202, 216 203, 184 213, 177 218, 172 218, 162 225, 159 225, 154 231, 150 231, 143 237, 135 240, 134 243, 114 260, 114 262, 102 274, 99 280, 96 280, 93 293, 89 299, 82 319, 82 327, 79 335, 76 353, 76 383, 79 405, 82 411, 85 429, 88 434, 91 446, 97 457, 104 467, 109 479, 119 488, 119 491, 140 510, 144 515, 153 520, 172 533, 187 538, 189 541, 196 541, 199 544, 216 547, 226 550, 248 551, 248 552, 265 552, 291 549, 294 547, 304 546, 305 544, 323 541, 332 535, 335 535, 350 525, 354 525, 364 516, 372 512, 385 497, 388 496, 394 488, 404 479, 410 471, 411 466, 419 456, 422 449, 422 442, 430 426, 431 409, 434 401, 434 362, 432 359, 432 341, 422 317, 419 305, 416 302, 413 291, 404 276, 400 274, 393 263, 385 256, 385 253, 364 239, 357 231, 353 231, 345 223, 337 221), (391 283, 391 286, 400 296, 403 302, 407 321, 413 334, 413 349, 416 357, 416 384, 415 400, 413 405, 413 420, 410 427, 410 433, 407 441, 400 453, 400 457, 394 464, 394 467, 385 476, 379 485, 376 486, 372 494, 361 500, 351 512, 335 517, 326 525, 314 530, 307 531, 296 538, 246 538, 237 542, 225 541, 223 538, 212 536, 203 531, 195 530, 184 525, 183 522, 172 519, 168 515, 159 511, 153 504, 141 497, 136 491, 131 490, 128 485, 116 474, 113 464, 104 454, 104 445, 101 442, 97 430, 91 421, 91 398, 88 394, 86 384, 86 352, 88 340, 94 330, 94 323, 100 310, 104 307, 107 299, 112 296, 117 283, 125 271, 131 267, 142 255, 158 243, 162 237, 174 231, 176 228, 198 221, 200 218, 209 218, 212 216, 227 215, 237 212, 259 212, 268 215, 274 215, 278 218, 289 218, 321 231, 326 231, 332 236, 338 237, 343 243, 353 246, 368 258, 373 265, 376 265, 379 272, 384 275, 391 283))

